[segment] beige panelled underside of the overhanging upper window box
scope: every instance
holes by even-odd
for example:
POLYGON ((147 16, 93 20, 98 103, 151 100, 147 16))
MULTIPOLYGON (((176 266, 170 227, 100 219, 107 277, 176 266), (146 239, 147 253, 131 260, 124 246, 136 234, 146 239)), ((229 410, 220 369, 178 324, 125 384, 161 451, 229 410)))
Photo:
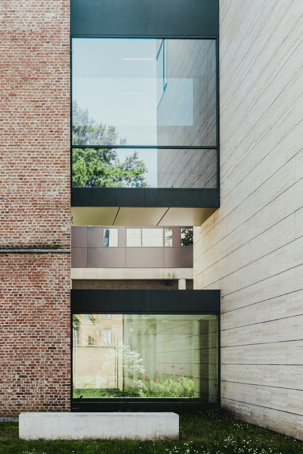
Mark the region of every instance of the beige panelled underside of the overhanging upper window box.
POLYGON ((71 207, 74 226, 200 226, 215 208, 71 207))

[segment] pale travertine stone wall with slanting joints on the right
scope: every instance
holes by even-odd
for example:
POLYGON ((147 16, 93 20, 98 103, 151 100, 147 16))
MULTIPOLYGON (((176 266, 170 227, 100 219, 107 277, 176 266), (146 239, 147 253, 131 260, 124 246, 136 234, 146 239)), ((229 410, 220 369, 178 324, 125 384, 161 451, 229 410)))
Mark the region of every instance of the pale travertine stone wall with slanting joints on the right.
POLYGON ((221 207, 194 287, 221 289, 221 396, 303 439, 303 3, 220 1, 221 207))

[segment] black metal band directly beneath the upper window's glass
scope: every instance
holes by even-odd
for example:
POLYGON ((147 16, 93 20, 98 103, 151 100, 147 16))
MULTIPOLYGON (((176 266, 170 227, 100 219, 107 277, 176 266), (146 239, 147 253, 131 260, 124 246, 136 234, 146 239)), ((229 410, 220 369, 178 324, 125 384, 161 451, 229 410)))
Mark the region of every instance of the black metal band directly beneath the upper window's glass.
POLYGON ((73 188, 72 207, 218 208, 217 189, 73 188))

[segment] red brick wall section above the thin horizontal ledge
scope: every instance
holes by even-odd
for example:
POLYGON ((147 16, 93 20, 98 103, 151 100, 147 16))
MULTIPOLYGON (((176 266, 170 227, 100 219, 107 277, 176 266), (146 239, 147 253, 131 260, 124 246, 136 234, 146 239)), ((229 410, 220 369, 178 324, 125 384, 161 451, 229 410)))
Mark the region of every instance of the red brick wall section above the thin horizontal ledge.
POLYGON ((2 1, 0 246, 70 247, 70 2, 2 1))

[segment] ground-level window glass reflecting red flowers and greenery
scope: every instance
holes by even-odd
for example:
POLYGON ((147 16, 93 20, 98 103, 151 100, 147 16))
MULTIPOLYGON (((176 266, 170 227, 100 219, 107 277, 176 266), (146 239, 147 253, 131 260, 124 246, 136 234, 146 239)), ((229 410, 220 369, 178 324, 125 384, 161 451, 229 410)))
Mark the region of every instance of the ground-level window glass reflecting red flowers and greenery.
POLYGON ((73 395, 217 401, 217 316, 73 316, 73 395))

